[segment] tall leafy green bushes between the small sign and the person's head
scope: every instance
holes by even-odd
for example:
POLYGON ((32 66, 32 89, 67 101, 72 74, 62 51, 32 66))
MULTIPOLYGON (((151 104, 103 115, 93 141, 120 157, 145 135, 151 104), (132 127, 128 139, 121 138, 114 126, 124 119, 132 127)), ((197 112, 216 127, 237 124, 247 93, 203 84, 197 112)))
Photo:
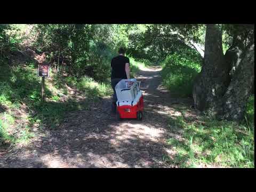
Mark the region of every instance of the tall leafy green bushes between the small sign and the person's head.
POLYGON ((106 81, 110 60, 119 46, 127 46, 129 25, 36 25, 34 47, 46 52, 53 66, 76 77, 106 81))

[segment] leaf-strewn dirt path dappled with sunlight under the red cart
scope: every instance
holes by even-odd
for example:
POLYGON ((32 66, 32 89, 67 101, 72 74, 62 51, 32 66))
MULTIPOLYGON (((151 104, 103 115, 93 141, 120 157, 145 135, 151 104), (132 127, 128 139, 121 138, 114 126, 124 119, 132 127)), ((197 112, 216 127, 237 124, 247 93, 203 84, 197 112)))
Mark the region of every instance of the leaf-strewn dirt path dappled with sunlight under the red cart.
POLYGON ((26 148, 0 156, 0 167, 166 167, 163 154, 172 151, 165 139, 181 137, 180 130, 167 124, 167 116, 180 115, 175 103, 188 106, 191 100, 173 99, 161 85, 160 67, 141 70, 137 79, 145 97, 142 122, 116 121, 110 98, 103 98, 89 110, 70 113, 58 129, 26 148))

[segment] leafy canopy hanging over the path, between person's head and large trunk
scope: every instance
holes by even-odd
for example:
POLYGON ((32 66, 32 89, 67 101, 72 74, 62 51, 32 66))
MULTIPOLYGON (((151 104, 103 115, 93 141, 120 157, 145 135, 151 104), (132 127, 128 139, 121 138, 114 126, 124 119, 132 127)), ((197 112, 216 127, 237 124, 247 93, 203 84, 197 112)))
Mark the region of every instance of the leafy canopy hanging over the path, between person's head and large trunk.
POLYGON ((129 34, 129 53, 151 62, 162 61, 187 42, 204 44, 204 25, 138 25, 129 34), (139 29, 140 27, 140 29, 139 29))

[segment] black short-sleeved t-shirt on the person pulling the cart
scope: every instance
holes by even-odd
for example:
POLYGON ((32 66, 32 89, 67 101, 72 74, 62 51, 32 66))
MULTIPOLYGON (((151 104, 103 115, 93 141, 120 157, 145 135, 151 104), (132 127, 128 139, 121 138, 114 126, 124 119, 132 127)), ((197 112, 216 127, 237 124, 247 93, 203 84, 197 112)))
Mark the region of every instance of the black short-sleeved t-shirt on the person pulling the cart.
POLYGON ((117 57, 111 60, 111 67, 112 67, 111 79, 113 78, 127 79, 127 76, 125 73, 125 63, 129 63, 130 65, 130 60, 129 58, 123 55, 118 55, 117 57))

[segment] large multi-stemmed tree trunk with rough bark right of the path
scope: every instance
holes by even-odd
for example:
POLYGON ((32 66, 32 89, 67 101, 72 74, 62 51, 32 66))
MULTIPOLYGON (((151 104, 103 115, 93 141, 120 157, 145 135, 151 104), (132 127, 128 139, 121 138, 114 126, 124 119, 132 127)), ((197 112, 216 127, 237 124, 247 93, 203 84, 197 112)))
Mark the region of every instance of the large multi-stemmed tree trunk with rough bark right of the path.
POLYGON ((197 109, 239 121, 254 84, 254 36, 246 48, 239 34, 233 39, 224 56, 220 29, 207 25, 203 67, 194 83, 193 98, 197 109))

